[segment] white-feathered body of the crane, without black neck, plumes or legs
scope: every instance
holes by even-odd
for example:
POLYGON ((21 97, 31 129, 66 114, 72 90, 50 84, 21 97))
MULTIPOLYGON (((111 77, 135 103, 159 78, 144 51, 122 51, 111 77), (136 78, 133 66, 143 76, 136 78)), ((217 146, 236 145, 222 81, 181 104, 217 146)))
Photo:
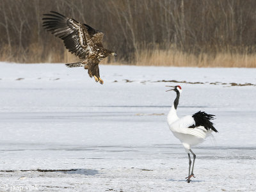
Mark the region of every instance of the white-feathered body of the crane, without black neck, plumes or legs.
POLYGON ((167 121, 173 135, 180 140, 187 153, 193 145, 202 143, 207 136, 211 135, 211 131, 207 131, 203 126, 188 128, 195 125, 195 120, 191 115, 179 118, 174 105, 167 116, 167 121))

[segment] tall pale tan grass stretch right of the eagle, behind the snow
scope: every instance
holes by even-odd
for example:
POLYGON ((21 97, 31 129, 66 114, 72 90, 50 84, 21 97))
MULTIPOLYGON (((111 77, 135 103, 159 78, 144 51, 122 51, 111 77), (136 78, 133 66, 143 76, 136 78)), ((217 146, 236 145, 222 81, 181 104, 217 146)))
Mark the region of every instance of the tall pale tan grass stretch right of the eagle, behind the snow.
POLYGON ((181 51, 160 50, 140 51, 136 65, 177 66, 177 67, 256 67, 256 54, 232 54, 230 52, 198 56, 181 51))

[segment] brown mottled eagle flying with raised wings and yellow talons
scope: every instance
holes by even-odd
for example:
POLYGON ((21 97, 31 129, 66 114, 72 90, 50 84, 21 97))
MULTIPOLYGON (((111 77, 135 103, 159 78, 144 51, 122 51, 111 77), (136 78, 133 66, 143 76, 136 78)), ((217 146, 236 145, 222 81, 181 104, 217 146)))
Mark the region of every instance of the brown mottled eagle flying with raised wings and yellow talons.
POLYGON ((78 63, 68 63, 67 67, 84 67, 90 77, 103 84, 100 79, 99 62, 116 53, 105 49, 102 45, 103 33, 92 27, 81 24, 58 12, 44 14, 43 27, 53 35, 60 37, 69 52, 75 53, 81 60, 78 63))

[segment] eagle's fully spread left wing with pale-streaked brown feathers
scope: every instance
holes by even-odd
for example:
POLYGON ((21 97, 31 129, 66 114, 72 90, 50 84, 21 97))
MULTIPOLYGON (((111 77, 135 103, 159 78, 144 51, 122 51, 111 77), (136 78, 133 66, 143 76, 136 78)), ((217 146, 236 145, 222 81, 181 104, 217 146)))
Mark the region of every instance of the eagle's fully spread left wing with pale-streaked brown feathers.
POLYGON ((86 27, 74 19, 70 19, 58 12, 44 14, 43 27, 55 36, 60 37, 65 47, 81 59, 92 54, 93 40, 86 27))

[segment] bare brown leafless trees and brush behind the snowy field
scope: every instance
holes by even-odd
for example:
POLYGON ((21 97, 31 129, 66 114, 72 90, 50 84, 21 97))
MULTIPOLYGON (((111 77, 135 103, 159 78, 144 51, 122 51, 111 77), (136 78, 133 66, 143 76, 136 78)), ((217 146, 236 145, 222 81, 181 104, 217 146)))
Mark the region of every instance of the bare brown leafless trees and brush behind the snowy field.
POLYGON ((256 52, 254 0, 1 0, 0 59, 66 62, 61 40, 42 28, 42 14, 51 10, 104 32, 104 47, 120 63, 138 62, 141 50, 195 58, 256 52))

